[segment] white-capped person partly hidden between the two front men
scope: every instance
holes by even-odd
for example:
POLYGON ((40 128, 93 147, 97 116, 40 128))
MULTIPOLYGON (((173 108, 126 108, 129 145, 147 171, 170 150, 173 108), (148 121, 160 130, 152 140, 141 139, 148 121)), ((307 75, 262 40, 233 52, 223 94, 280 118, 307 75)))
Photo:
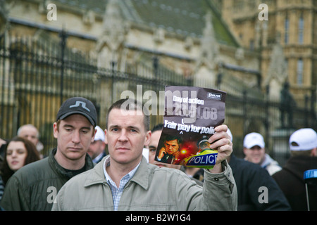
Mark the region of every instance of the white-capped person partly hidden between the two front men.
POLYGON ((104 131, 101 127, 96 126, 97 132, 94 136, 94 142, 89 146, 88 154, 92 158, 92 162, 98 163, 106 156, 104 148, 106 148, 106 143, 104 143, 104 131))

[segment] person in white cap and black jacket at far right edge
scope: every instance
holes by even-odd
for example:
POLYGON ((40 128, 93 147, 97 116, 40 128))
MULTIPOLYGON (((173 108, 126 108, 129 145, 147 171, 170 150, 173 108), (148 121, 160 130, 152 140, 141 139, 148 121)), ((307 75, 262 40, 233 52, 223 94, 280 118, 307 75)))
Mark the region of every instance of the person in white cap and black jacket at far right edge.
MULTIPOLYGON (((292 210, 308 210, 304 184, 304 172, 317 169, 317 134, 311 128, 295 131, 290 136, 291 158, 280 172, 273 175, 285 194, 292 210)), ((310 201, 311 204, 311 201, 310 201)), ((317 200, 312 203, 317 206, 317 200)))

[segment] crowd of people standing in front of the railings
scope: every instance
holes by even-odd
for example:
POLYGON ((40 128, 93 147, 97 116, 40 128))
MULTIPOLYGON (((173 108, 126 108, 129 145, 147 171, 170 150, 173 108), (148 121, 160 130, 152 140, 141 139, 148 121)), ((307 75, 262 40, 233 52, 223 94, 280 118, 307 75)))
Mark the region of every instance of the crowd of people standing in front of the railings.
MULTIPOLYGON (((208 140, 218 150, 216 165, 189 168, 160 162, 173 162, 180 142, 166 140, 158 149, 163 124, 150 129, 144 110, 120 99, 102 129, 91 101, 68 98, 53 124, 57 146, 47 157, 32 124, 0 139, 0 210, 309 210, 304 172, 317 169, 313 129, 290 136, 291 157, 281 167, 256 132, 244 136, 245 158, 237 158, 222 124, 208 140), (127 103, 132 107, 123 108, 127 103)), ((317 198, 309 204, 317 210, 317 198)))

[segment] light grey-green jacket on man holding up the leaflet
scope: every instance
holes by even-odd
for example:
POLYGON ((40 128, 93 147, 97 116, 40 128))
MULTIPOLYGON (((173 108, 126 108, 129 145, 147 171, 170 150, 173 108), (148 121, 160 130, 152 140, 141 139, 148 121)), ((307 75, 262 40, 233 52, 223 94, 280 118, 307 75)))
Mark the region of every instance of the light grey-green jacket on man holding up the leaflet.
MULTIPOLYGON (((52 210, 113 210, 111 188, 104 176, 104 160, 94 169, 70 179, 56 197, 52 210)), ((237 188, 232 170, 205 170, 204 187, 178 169, 159 168, 145 158, 123 189, 118 210, 237 210, 237 188)))

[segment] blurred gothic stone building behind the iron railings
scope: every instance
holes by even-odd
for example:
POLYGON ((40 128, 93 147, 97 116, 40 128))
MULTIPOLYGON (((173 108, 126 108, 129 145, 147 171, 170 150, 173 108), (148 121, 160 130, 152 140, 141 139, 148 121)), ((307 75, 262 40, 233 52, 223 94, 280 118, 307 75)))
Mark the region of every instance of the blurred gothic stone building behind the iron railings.
MULTIPOLYGON (((160 70, 165 71, 159 74, 164 79, 185 77, 194 86, 222 89, 230 96, 241 97, 247 91, 255 99, 273 101, 279 101, 288 82, 297 105, 304 105, 309 96, 311 108, 316 108, 314 0, 1 0, 0 4, 1 37, 13 37, 11 45, 17 37, 59 44, 61 34, 66 34, 70 53, 82 53, 104 70, 154 80, 160 70), (259 19, 260 4, 268 6, 268 20, 259 19)), ((54 44, 50 46, 54 51, 54 44)), ((14 86, 9 72, 0 78, 2 86, 5 82, 14 86)), ((101 124, 111 101, 135 89, 123 79, 111 85, 99 84, 98 94, 90 94, 101 124)), ((6 87, 1 90, 10 93, 6 87)), ((89 91, 81 94, 89 97, 89 91)), ((14 98, 10 101, 13 105, 14 98)), ((57 110, 52 111, 50 118, 57 110)), ((21 112, 20 116, 32 114, 21 112)), ((244 116, 234 104, 226 108, 226 124, 235 136, 254 127, 260 132, 267 129, 266 122, 239 119, 244 116)))

